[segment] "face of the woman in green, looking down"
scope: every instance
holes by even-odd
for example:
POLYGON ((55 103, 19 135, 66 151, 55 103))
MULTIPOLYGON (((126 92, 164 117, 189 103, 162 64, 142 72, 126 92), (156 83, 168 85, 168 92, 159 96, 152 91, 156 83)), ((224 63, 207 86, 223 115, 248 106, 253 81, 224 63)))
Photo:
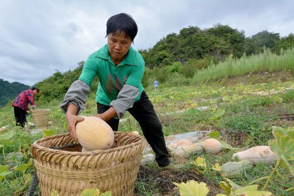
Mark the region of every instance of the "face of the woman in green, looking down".
POLYGON ((111 59, 115 63, 120 63, 132 44, 130 37, 125 37, 124 33, 109 33, 107 36, 108 50, 111 59))

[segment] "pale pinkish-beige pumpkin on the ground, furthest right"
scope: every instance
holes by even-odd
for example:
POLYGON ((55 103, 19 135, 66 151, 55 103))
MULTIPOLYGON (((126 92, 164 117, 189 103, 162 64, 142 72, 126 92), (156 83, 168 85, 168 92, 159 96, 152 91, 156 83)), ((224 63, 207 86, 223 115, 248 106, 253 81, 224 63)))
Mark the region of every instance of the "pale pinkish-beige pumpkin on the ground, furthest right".
POLYGON ((248 160, 253 164, 273 164, 279 156, 273 153, 269 146, 256 146, 233 154, 232 160, 248 160))

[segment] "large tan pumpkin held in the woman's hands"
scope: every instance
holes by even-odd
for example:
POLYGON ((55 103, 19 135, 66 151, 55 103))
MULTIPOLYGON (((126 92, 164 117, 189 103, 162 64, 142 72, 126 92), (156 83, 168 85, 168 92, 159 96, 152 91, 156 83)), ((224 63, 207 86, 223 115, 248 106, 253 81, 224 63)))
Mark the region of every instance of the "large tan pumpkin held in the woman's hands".
POLYGON ((80 145, 88 151, 108 149, 114 142, 112 128, 97 117, 83 117, 82 122, 76 123, 76 137, 80 145))

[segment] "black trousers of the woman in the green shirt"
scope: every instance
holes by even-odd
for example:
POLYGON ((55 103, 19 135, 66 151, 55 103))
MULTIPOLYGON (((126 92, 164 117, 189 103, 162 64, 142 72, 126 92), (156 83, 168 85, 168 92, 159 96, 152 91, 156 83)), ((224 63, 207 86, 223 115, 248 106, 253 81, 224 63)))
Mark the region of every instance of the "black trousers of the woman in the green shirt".
MULTIPOLYGON (((109 109, 109 105, 97 102, 97 112, 101 114, 109 109)), ((142 92, 140 100, 134 103, 133 107, 127 110, 141 126, 143 134, 155 152, 155 160, 159 166, 164 167, 170 164, 169 153, 165 144, 162 125, 154 111, 153 105, 145 91, 142 92)), ((119 119, 112 118, 108 123, 114 131, 118 130, 119 119)))

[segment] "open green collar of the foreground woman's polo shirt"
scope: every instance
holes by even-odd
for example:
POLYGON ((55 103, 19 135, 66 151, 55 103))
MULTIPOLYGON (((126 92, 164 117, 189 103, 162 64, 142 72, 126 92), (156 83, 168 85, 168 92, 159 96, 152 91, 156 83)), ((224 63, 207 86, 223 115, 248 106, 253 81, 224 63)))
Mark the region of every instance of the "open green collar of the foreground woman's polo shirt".
MULTIPOLYGON (((103 58, 105 60, 110 61, 111 58, 108 53, 108 44, 105 44, 103 48, 98 50, 96 57, 103 58)), ((130 46, 126 54, 126 57, 123 59, 123 61, 119 65, 127 64, 127 65, 138 66, 135 60, 136 60, 135 50, 133 49, 133 47, 130 46)))

